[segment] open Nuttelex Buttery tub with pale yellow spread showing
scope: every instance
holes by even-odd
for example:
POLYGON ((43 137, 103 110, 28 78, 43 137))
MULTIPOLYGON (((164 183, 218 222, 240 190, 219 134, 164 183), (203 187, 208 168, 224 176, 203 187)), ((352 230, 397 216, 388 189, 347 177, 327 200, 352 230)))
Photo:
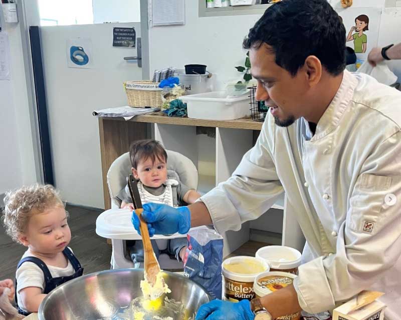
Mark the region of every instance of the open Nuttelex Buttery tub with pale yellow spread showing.
POLYGON ((251 300, 256 276, 269 271, 269 264, 253 256, 234 256, 223 261, 224 295, 230 301, 251 300))

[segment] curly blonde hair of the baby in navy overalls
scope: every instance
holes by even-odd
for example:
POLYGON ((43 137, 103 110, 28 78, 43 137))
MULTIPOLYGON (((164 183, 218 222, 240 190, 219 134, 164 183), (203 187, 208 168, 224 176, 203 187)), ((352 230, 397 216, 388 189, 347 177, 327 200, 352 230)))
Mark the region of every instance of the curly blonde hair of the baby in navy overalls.
POLYGON ((33 184, 10 190, 6 193, 4 202, 3 220, 6 232, 16 242, 20 242, 18 237, 26 231, 32 215, 55 206, 64 207, 59 192, 50 184, 33 184))

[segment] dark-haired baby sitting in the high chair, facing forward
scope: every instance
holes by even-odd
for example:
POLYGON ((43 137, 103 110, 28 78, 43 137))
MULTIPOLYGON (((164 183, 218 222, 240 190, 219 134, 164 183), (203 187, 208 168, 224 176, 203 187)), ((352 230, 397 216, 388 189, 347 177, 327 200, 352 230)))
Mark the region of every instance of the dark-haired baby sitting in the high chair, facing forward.
MULTIPOLYGON (((138 180, 138 190, 142 203, 165 203, 170 206, 181 206, 195 202, 200 194, 189 189, 177 180, 178 176, 167 176, 167 152, 156 140, 138 140, 131 144, 129 156, 132 174, 138 180)), ((121 201, 121 208, 134 210, 128 185, 116 196, 121 201)), ((182 261, 185 255, 187 240, 185 237, 169 239, 165 252, 182 261)), ((129 252, 135 266, 143 262, 142 241, 129 241, 129 252)), ((161 253, 152 240, 153 250, 158 258, 161 253)))

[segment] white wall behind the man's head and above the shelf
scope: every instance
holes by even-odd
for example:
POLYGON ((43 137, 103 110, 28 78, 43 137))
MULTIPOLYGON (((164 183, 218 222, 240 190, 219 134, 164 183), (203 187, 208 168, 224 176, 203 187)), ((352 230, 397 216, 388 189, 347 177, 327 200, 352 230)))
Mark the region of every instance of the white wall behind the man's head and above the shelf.
MULTIPOLYGON (((354 6, 367 4, 366 0, 354 0, 354 6)), ((261 15, 198 17, 197 0, 185 1, 185 14, 185 25, 149 29, 150 72, 169 65, 183 68, 187 63, 203 63, 217 74, 220 85, 236 79, 240 73, 234 66, 243 65, 245 57, 242 40, 261 15), (174 46, 174 42, 179 46, 174 46)), ((378 45, 401 42, 401 8, 385 9, 380 30, 378 45)), ((390 66, 401 79, 401 61, 393 61, 390 66)))

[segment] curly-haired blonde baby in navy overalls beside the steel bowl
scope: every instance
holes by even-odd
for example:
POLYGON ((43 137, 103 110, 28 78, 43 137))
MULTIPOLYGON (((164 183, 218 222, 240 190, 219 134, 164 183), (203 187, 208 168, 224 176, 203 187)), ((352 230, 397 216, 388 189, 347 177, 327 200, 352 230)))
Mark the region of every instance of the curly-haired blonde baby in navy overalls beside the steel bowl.
POLYGON ((6 232, 28 247, 16 273, 15 298, 21 314, 37 312, 47 293, 83 273, 67 246, 71 240, 67 217, 51 185, 34 184, 6 193, 6 232))

